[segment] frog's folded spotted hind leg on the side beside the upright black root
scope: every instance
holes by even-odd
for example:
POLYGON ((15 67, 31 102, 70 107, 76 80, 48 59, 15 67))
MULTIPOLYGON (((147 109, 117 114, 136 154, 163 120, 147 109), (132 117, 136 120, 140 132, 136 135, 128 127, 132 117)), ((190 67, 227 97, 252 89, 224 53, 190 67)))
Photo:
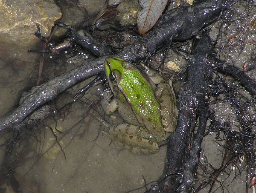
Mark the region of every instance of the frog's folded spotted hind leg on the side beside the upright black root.
MULTIPOLYGON (((170 81, 169 84, 172 84, 172 81, 170 81)), ((155 95, 160 101, 160 114, 163 130, 166 132, 173 132, 176 128, 178 112, 175 93, 172 85, 170 86, 169 84, 158 84, 155 89, 155 95)))

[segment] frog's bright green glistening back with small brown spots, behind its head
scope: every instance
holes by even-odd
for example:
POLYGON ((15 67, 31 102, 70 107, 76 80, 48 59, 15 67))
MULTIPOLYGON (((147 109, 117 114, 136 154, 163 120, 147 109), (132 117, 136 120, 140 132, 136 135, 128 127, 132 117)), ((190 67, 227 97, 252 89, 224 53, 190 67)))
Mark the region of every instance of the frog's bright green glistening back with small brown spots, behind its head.
POLYGON ((120 87, 123 88, 121 91, 123 99, 126 99, 130 105, 139 124, 144 125, 150 133, 159 135, 162 129, 160 105, 150 83, 137 70, 132 73, 129 71, 127 75, 129 78, 125 78, 125 76, 126 74, 123 72, 122 80, 119 82, 120 87))

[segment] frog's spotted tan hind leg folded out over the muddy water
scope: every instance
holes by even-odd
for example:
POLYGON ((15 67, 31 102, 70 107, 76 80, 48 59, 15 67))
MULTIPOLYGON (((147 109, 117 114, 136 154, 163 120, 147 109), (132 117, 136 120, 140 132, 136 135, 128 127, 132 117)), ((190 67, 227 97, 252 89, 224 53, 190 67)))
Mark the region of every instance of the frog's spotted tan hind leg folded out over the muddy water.
POLYGON ((122 146, 137 154, 151 154, 159 151, 157 139, 152 138, 144 127, 133 124, 118 124, 108 131, 110 137, 122 146))

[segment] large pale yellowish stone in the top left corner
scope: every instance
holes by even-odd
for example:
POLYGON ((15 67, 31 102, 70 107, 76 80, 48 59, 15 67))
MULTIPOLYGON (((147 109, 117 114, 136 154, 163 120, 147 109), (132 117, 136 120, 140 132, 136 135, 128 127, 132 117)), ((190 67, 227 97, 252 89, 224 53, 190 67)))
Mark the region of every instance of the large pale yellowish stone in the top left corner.
POLYGON ((0 41, 28 45, 39 23, 41 34, 49 35, 61 9, 53 0, 0 0, 0 41))

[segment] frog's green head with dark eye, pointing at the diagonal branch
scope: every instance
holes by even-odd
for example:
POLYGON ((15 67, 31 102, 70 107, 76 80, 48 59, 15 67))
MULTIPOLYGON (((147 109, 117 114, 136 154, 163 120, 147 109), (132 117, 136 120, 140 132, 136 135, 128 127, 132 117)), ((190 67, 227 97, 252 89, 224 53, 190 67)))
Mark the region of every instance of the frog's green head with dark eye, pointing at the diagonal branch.
POLYGON ((108 84, 114 95, 116 95, 119 91, 118 85, 122 79, 122 72, 126 63, 127 62, 121 58, 108 57, 105 60, 105 74, 108 80, 108 84))

